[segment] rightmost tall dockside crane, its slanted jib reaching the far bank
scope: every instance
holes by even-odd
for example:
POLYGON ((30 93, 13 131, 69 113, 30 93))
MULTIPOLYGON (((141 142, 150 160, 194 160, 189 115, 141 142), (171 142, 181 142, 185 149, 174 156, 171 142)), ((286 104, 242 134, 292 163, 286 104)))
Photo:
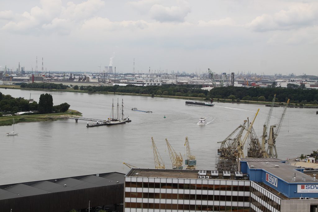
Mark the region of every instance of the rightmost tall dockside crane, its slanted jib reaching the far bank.
POLYGON ((270 158, 274 158, 274 157, 277 158, 277 156, 278 156, 277 150, 276 150, 276 138, 277 138, 278 133, 280 131, 280 127, 283 123, 288 104, 289 104, 289 99, 287 100, 287 104, 286 104, 283 112, 281 113, 280 120, 279 120, 278 124, 272 125, 270 127, 269 137, 268 137, 268 147, 267 147, 267 154, 270 158), (274 132, 274 127, 276 127, 275 132, 274 132), (274 151, 275 151, 275 154, 274 154, 274 151))

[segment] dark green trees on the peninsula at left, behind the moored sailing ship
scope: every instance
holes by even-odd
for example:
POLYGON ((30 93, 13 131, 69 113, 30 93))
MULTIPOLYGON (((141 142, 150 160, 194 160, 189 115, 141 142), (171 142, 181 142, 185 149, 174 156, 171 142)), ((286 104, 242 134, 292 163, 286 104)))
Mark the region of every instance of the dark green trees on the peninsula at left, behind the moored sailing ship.
POLYGON ((14 114, 20 111, 38 111, 40 114, 64 113, 69 107, 70 105, 67 103, 53 106, 52 95, 48 93, 40 95, 39 103, 36 101, 29 103, 29 100, 22 97, 14 98, 0 92, 0 116, 2 113, 14 114))

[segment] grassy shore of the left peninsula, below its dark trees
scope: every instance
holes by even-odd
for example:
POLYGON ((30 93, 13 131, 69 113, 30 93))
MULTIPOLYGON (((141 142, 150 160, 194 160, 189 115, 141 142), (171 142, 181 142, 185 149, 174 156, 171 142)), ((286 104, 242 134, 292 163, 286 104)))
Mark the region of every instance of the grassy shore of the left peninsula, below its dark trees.
POLYGON ((81 116, 82 113, 76 110, 68 110, 66 113, 49 113, 49 114, 37 114, 37 115, 14 115, 14 116, 2 116, 0 117, 0 126, 12 125, 14 118, 15 123, 21 122, 38 122, 38 121, 52 121, 52 120, 61 120, 62 118, 56 117, 52 118, 52 116, 68 116, 68 117, 75 117, 81 116), (50 115, 50 118, 46 116, 50 115))

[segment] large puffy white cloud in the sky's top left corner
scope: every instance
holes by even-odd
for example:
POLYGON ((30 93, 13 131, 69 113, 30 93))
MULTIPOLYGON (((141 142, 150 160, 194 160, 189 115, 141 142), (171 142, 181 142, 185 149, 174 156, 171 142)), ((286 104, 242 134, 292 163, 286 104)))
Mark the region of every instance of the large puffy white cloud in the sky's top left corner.
POLYGON ((40 3, 41 8, 35 6, 30 12, 17 15, 16 20, 4 24, 2 30, 26 34, 57 29, 57 32, 67 34, 105 5, 101 0, 87 0, 79 4, 68 2, 66 7, 62 6, 61 0, 41 0, 40 3))

